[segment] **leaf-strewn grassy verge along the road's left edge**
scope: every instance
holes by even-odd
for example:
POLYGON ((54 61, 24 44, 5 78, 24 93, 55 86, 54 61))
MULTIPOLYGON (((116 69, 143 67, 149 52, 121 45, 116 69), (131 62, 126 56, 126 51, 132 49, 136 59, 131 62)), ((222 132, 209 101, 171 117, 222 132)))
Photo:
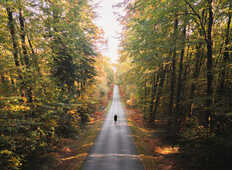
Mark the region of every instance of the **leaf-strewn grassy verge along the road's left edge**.
POLYGON ((61 142, 62 149, 58 156, 56 170, 81 170, 91 147, 101 129, 106 113, 112 104, 112 99, 103 110, 101 117, 91 122, 82 129, 78 139, 64 139, 61 142))

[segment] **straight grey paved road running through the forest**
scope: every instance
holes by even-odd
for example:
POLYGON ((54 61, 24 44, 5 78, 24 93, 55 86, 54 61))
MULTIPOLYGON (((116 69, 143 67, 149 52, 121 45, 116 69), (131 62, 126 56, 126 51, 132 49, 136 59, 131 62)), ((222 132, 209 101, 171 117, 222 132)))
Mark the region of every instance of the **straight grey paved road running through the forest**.
POLYGON ((111 108, 82 170, 144 169, 136 155, 118 91, 115 86, 111 108), (116 123, 113 120, 114 114, 118 115, 116 123))

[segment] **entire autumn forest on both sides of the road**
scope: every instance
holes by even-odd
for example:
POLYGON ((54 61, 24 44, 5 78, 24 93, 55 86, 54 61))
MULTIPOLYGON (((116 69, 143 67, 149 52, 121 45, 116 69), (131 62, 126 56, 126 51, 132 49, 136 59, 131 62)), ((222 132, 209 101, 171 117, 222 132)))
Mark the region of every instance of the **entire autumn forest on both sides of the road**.
POLYGON ((114 84, 147 129, 162 128, 179 148, 177 169, 231 169, 232 1, 118 3, 116 64, 98 49, 105 40, 94 8, 0 1, 0 169, 50 164, 61 141, 80 140, 106 108, 114 84))

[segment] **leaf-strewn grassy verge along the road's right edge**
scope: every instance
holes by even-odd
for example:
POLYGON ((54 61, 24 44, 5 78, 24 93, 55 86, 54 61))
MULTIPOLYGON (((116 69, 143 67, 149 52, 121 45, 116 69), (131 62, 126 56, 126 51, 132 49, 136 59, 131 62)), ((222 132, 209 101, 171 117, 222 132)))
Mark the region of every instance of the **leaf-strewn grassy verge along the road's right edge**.
POLYGON ((164 143, 166 132, 162 128, 148 128, 143 120, 143 113, 128 107, 123 97, 120 100, 144 169, 174 170, 175 162, 172 157, 178 153, 178 148, 164 143))

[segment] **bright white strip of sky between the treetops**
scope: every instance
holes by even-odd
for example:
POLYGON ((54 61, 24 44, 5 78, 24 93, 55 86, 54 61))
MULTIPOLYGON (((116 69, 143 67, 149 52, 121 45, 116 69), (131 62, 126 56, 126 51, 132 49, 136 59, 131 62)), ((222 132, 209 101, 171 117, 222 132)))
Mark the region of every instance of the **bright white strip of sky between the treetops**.
POLYGON ((118 37, 122 31, 122 25, 117 21, 115 13, 123 14, 123 10, 113 6, 122 0, 94 0, 94 2, 99 3, 98 8, 94 9, 98 16, 95 22, 98 27, 104 30, 104 38, 107 40, 107 48, 102 49, 101 52, 104 56, 109 57, 113 63, 117 63, 120 45, 118 37))

